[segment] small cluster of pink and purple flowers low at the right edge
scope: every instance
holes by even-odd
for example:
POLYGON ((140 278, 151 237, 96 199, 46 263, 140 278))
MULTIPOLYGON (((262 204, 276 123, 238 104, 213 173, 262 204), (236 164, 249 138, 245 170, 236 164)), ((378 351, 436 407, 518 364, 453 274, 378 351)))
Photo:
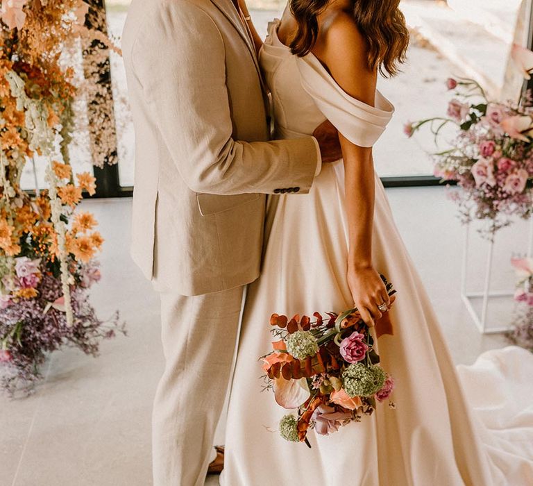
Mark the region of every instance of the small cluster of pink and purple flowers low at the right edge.
POLYGON ((514 328, 507 338, 514 344, 533 351, 533 258, 513 258, 517 282, 514 300, 517 303, 514 328))

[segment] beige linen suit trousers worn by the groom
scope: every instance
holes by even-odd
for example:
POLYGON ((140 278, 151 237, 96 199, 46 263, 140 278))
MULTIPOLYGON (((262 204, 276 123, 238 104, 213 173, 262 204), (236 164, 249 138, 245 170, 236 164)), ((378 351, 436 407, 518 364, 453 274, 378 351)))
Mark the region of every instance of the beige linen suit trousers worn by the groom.
POLYGON ((165 369, 153 405, 154 486, 203 486, 228 389, 244 287, 160 292, 165 369))

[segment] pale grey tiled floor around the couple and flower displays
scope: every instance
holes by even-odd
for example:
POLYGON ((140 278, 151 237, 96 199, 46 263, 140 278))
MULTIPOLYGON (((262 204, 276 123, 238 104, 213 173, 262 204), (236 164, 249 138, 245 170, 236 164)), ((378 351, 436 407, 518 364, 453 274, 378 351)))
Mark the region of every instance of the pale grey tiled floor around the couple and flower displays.
MULTIPOLYGON (((504 346, 481 336, 459 300, 464 231, 443 188, 388 190, 405 242, 441 318, 455 362, 471 363, 504 346)), ((105 342, 101 356, 67 349, 51 357, 35 395, 0 398, 0 485, 149 486, 150 412, 162 370, 158 298, 128 256, 130 200, 86 201, 107 238, 103 279, 92 301, 102 317, 119 308, 128 337, 105 342)), ((502 233, 498 284, 512 287, 509 256, 525 251, 525 224, 502 233)), ((473 240, 471 272, 480 285, 484 245, 473 240)), ((210 478, 209 485, 217 480, 210 478)))

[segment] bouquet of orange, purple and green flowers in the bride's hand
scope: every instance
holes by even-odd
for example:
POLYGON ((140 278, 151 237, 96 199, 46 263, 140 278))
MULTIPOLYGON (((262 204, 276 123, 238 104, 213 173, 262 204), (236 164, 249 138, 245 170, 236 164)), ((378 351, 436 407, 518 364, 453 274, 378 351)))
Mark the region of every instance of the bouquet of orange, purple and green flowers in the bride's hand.
MULTIPOLYGON (((396 291, 385 283, 392 303, 396 291)), ((329 435, 361 421, 362 415, 375 410, 376 400, 388 399, 394 389, 394 379, 380 367, 374 339, 357 308, 327 315, 324 319, 314 312, 312 320, 273 314, 271 332, 280 339, 261 358, 265 389, 273 389, 282 408, 298 410, 281 419, 281 436, 307 446, 310 428, 329 435)), ((395 407, 391 401, 389 406, 395 407)))

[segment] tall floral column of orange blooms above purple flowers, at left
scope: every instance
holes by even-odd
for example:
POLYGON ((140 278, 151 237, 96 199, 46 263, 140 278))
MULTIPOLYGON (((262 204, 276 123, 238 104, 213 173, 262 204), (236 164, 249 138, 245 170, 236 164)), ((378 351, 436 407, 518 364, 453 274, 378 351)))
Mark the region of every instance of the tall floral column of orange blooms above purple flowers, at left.
MULTIPOLYGON (((116 48, 87 27, 101 14, 81 0, 0 1, 0 374, 13 394, 31 391, 47 353, 73 345, 96 355, 102 338, 124 332, 118 314, 101 321, 89 301, 103 237, 76 206, 95 178, 74 174, 69 157, 83 132, 76 103, 90 100, 101 133, 112 121, 110 95, 94 81, 116 48), (22 190, 26 164, 44 165, 46 190, 22 190)), ((104 139, 93 149, 99 166, 116 162, 104 139)))

